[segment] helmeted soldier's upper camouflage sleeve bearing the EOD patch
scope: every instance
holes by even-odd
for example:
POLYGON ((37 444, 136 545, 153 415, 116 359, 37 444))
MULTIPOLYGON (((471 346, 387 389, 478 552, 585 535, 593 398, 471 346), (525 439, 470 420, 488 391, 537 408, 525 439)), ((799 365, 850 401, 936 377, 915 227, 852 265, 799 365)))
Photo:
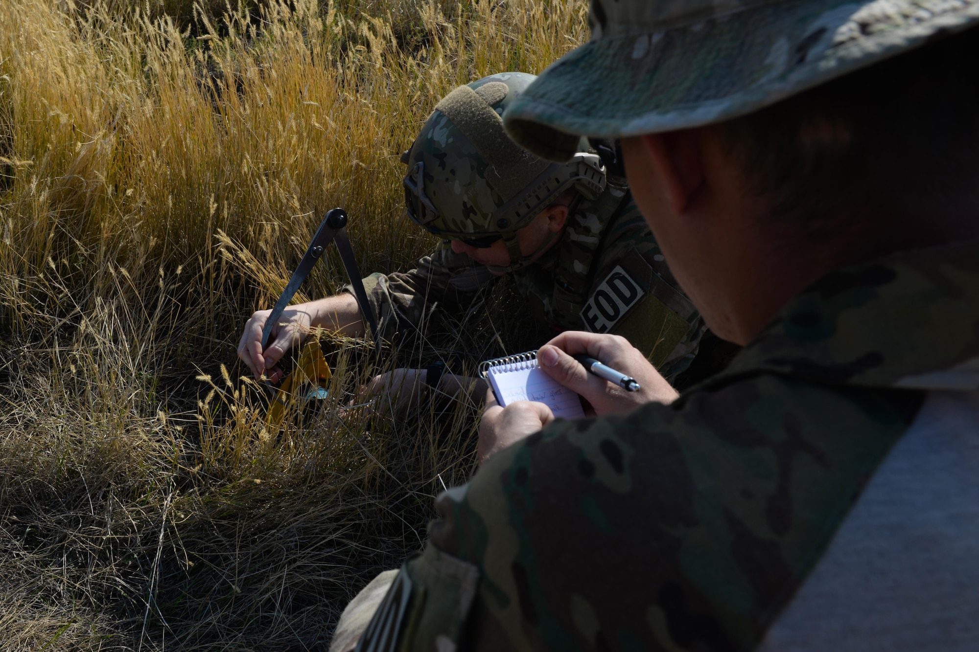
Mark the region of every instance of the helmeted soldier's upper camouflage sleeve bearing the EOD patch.
POLYGON ((585 325, 625 337, 673 381, 696 355, 707 329, 704 320, 676 283, 634 202, 606 233, 596 260, 596 287, 583 309, 585 325))

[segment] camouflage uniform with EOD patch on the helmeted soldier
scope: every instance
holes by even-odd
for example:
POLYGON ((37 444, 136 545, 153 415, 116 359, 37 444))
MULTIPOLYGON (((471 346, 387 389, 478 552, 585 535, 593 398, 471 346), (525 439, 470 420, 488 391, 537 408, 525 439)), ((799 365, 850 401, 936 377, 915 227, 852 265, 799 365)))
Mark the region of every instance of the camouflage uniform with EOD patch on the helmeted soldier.
MULTIPOLYGON (((582 200, 554 249, 510 274, 543 326, 622 335, 667 378, 682 372, 696 353, 703 320, 677 289, 628 187, 611 179, 596 200, 582 200), (610 286, 616 273, 627 278, 617 276, 610 286)), ((465 310, 497 278, 443 242, 417 268, 371 274, 364 286, 383 335, 391 338, 406 324, 416 326, 433 303, 465 310)))

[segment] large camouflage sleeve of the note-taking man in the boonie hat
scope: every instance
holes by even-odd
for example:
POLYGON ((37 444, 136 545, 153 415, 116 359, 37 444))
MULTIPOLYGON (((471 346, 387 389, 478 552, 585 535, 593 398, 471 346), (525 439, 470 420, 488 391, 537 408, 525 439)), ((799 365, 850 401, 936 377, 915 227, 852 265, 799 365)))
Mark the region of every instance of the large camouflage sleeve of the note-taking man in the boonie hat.
POLYGON ((380 619, 398 649, 750 650, 913 415, 776 376, 678 402, 555 422, 443 493, 380 619))

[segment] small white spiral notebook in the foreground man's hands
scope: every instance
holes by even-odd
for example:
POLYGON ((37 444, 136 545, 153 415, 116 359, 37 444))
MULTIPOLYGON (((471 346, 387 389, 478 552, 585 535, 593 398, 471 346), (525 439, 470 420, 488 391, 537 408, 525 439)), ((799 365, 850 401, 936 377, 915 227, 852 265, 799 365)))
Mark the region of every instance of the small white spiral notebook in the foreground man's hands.
POLYGON ((480 376, 489 380, 496 402, 536 400, 551 408, 554 416, 580 419, 584 416, 578 394, 558 384, 537 366, 537 351, 507 355, 480 364, 480 376))

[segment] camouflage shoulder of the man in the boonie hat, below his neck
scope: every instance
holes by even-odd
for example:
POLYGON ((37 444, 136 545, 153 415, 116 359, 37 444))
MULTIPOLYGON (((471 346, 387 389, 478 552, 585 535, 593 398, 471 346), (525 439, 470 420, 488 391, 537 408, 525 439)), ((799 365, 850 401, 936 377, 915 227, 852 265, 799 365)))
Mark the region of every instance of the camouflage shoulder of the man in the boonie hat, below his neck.
POLYGON ((827 384, 979 389, 979 241, 826 274, 725 373, 763 369, 827 384))

